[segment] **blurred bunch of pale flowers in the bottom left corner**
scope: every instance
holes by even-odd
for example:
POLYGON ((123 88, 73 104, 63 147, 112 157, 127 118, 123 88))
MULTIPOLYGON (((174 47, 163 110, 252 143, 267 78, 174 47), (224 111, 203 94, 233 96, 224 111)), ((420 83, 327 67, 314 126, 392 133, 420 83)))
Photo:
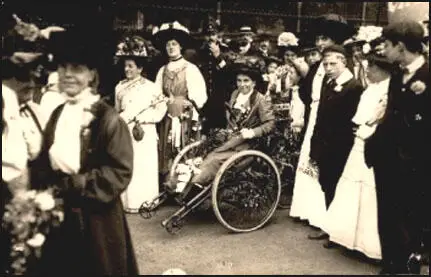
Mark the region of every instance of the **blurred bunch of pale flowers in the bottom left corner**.
POLYGON ((18 191, 6 205, 3 230, 11 239, 10 274, 25 274, 42 255, 46 236, 64 219, 52 189, 18 191))

